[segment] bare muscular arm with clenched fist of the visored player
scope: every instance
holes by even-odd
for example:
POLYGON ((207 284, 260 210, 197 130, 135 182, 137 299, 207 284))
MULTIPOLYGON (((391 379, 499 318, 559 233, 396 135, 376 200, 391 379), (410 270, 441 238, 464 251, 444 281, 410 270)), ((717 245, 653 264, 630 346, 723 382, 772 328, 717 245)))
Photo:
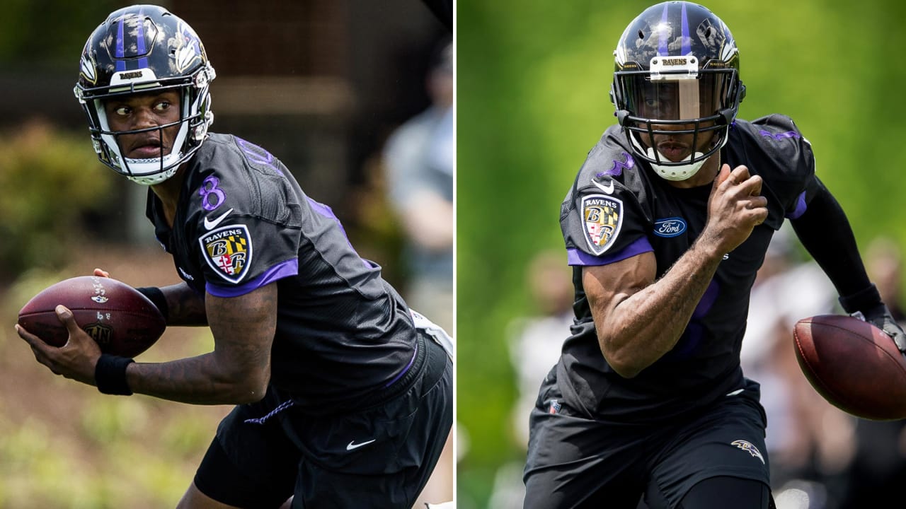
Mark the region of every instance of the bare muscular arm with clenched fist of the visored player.
POLYGON ((655 281, 651 253, 583 268, 598 344, 613 370, 632 378, 670 351, 689 323, 723 255, 767 216, 761 178, 724 165, 708 200, 708 223, 689 251, 655 281))

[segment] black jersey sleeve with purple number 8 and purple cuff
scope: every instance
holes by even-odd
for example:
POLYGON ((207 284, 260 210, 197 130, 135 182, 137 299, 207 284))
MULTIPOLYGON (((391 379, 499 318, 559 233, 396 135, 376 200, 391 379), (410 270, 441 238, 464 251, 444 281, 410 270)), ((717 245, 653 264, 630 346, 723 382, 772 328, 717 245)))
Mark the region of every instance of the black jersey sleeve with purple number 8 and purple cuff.
POLYGON ((190 197, 195 252, 206 290, 230 297, 298 274, 300 206, 288 171, 264 149, 236 139, 190 197))

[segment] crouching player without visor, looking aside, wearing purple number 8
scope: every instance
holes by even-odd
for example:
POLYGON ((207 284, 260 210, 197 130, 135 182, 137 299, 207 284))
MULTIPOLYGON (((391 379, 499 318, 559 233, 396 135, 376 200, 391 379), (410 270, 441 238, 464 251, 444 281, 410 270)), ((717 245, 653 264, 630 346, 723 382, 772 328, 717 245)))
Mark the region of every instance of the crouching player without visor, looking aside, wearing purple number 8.
POLYGON ((106 394, 236 405, 180 508, 410 509, 453 423, 450 339, 279 159, 208 131, 214 78, 185 21, 132 5, 88 38, 75 86, 98 158, 149 186, 147 216, 183 280, 140 292, 169 325, 209 326, 213 351, 102 355, 64 308, 64 348, 19 335, 106 394))

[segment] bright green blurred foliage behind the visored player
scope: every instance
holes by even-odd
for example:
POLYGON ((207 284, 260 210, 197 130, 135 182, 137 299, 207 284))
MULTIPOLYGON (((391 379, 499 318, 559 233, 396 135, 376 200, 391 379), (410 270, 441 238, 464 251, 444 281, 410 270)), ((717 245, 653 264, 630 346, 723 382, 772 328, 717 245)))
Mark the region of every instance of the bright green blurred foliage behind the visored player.
MULTIPOLYGON (((559 206, 586 152, 615 123, 612 51, 653 1, 458 0, 458 503, 484 507, 498 466, 523 461, 506 325, 535 312, 525 265, 560 248, 559 206)), ((740 49, 739 116, 791 116, 860 245, 906 245, 899 88, 906 6, 842 0, 704 3, 740 49)), ((827 225, 834 228, 835 225, 827 225)), ((565 253, 564 253, 565 264, 565 253)), ((563 341, 563 337, 551 341, 563 341)), ((540 384, 539 379, 539 384, 540 384)), ((527 416, 526 416, 527 426, 527 416)))

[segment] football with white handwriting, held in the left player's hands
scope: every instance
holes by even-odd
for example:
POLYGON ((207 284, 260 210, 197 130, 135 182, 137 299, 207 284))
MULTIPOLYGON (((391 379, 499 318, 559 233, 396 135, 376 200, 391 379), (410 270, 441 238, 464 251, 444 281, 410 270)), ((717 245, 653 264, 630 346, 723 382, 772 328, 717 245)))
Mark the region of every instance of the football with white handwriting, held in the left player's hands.
POLYGON ((101 346, 101 352, 135 357, 158 341, 167 328, 148 297, 109 277, 84 275, 48 286, 25 303, 19 325, 47 344, 60 347, 69 333, 56 306, 72 311, 75 322, 101 346))

